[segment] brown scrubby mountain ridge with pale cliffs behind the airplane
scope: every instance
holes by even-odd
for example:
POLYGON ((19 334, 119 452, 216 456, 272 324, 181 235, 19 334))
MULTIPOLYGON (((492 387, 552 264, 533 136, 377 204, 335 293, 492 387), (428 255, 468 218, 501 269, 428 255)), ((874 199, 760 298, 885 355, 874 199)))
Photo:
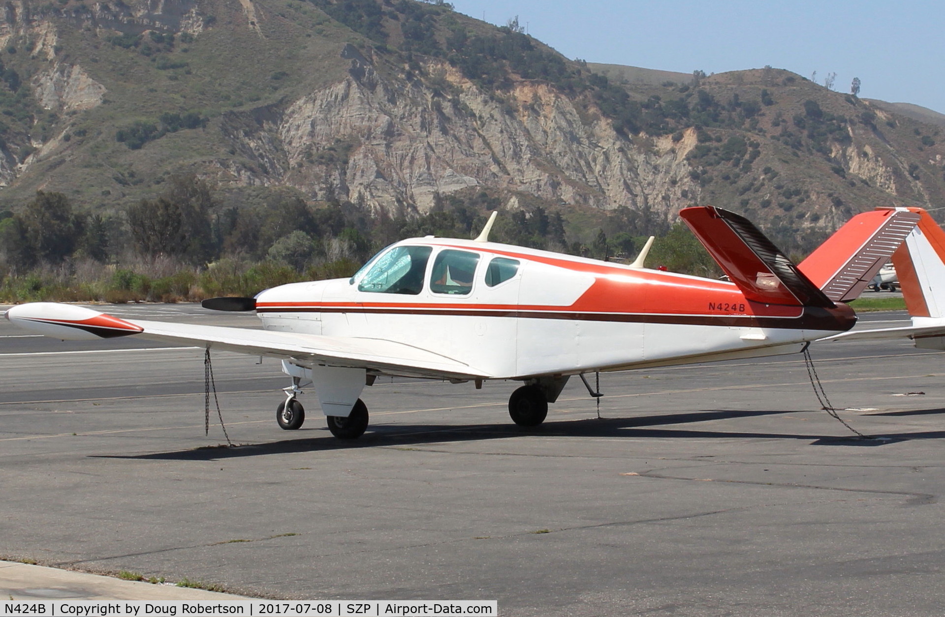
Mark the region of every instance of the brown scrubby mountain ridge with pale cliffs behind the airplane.
POLYGON ((7 7, 0 59, 27 77, 4 111, 11 208, 43 190, 121 209, 197 173, 235 202, 289 188, 375 211, 482 190, 666 224, 714 203, 787 238, 945 192, 936 125, 778 69, 608 78, 411 0, 7 7))

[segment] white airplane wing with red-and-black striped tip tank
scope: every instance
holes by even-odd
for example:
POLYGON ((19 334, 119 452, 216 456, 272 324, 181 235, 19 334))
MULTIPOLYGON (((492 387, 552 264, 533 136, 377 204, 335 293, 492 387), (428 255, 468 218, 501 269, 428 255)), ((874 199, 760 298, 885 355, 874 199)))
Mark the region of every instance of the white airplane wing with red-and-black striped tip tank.
POLYGON ((220 325, 190 325, 125 320, 91 308, 37 302, 7 311, 15 325, 64 340, 137 336, 151 341, 211 347, 251 356, 292 359, 293 363, 367 369, 386 375, 441 379, 482 379, 468 364, 401 342, 253 330, 220 325))

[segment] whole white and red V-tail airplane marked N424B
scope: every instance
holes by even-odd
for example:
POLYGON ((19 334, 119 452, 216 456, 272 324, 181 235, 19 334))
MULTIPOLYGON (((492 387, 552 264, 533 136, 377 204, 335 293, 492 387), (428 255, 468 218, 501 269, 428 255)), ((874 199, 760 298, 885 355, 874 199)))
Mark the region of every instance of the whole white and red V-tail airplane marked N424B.
MULTIPOLYGON (((14 324, 58 339, 138 336, 281 359, 292 378, 277 420, 299 428, 311 382, 332 433, 368 426, 362 390, 378 375, 523 382, 512 420, 534 426, 568 378, 602 371, 799 352, 849 330, 859 295, 919 220, 859 214, 796 266, 745 218, 712 207, 680 217, 729 281, 488 242, 414 238, 350 279, 293 283, 205 308, 255 310, 263 330, 122 320, 72 305, 10 308, 14 324)), ((590 390, 590 389, 589 389, 590 390)))

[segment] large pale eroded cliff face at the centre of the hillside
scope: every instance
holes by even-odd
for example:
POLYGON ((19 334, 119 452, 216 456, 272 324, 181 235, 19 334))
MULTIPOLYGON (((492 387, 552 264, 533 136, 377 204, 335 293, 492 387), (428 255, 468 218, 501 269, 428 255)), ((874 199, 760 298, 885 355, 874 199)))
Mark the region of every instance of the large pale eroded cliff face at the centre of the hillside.
POLYGON ((225 133, 260 170, 221 163, 232 181, 289 184, 313 195, 330 186, 353 202, 421 210, 435 193, 469 187, 656 211, 698 192, 680 156, 692 140, 634 147, 600 114, 578 112, 547 84, 521 81, 502 101, 431 63, 427 73, 452 86, 447 98, 417 81, 385 79, 352 46, 343 56, 351 68, 342 81, 282 109, 229 115, 225 133))

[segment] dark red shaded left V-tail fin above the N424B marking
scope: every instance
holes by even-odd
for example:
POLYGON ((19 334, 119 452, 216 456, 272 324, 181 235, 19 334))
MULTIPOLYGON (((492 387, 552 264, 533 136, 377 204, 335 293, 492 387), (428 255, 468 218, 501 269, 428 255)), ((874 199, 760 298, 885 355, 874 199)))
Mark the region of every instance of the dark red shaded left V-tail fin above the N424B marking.
POLYGON ((679 217, 748 300, 833 308, 831 299, 745 217, 712 206, 684 208, 679 217))

